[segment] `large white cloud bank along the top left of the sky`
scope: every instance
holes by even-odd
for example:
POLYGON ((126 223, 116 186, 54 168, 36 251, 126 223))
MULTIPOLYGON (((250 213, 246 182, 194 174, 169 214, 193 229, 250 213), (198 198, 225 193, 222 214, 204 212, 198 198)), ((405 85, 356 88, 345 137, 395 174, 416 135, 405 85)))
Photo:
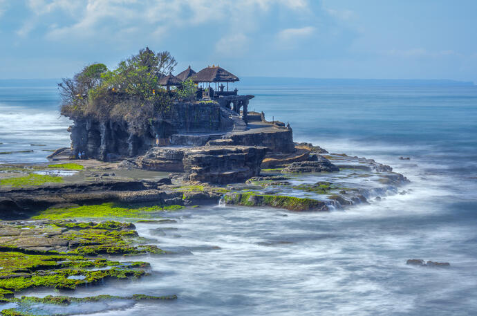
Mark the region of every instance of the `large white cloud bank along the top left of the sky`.
MULTIPOLYGON (((95 37, 101 31, 111 34, 132 26, 152 26, 152 32, 163 34, 167 30, 214 21, 243 30, 252 28, 256 12, 266 12, 272 6, 304 10, 308 7, 308 0, 243 0, 240 3, 231 0, 28 0, 28 8, 44 20, 53 12, 71 16, 68 23, 48 32, 48 38, 54 40, 95 37), (110 26, 102 27, 106 24, 110 26)), ((39 22, 40 19, 28 19, 17 34, 28 35, 39 22)))

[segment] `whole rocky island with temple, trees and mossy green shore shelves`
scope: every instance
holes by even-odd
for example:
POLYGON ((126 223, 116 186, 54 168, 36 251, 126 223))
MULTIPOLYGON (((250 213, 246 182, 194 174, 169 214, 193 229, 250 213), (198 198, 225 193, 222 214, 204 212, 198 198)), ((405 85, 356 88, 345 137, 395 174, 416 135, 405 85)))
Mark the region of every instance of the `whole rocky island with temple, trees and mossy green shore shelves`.
POLYGON ((330 211, 405 193, 407 179, 387 165, 294 142, 290 124, 250 111, 254 95, 241 95, 224 68, 172 75, 175 66, 145 48, 114 70, 84 67, 59 84, 71 146, 48 163, 2 165, 0 298, 15 304, 3 315, 26 315, 32 302, 175 299, 15 293, 148 275, 133 256, 169 252, 135 225, 174 223, 167 214, 184 207, 330 211))

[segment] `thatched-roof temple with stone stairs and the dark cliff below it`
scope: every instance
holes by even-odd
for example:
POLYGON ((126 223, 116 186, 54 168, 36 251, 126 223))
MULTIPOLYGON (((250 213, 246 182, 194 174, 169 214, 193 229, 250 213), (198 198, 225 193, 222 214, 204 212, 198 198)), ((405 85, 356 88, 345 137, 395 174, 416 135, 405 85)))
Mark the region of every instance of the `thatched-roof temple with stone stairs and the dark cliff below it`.
MULTIPOLYGON (((173 75, 162 75, 158 85, 171 95, 174 106, 147 119, 140 133, 124 120, 73 117, 72 146, 89 158, 117 160, 144 154, 151 147, 265 146, 272 153, 294 151, 292 129, 283 122, 265 120, 263 112, 249 111, 254 95, 239 95, 232 86, 239 78, 219 66, 194 71, 190 66, 173 75), (176 97, 178 88, 190 81, 196 93, 176 97)), ((113 93, 119 95, 120 89, 113 93)), ((66 151, 65 151, 66 152, 66 151)))

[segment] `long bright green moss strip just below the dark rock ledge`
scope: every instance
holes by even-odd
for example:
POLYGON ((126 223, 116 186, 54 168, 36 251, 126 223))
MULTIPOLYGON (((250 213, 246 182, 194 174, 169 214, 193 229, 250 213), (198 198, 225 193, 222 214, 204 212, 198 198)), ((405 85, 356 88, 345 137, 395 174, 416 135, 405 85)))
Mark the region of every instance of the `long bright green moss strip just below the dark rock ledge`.
POLYGON ((32 219, 97 219, 97 218, 149 218, 157 212, 182 210, 183 206, 150 206, 127 208, 115 205, 115 203, 103 203, 100 205, 84 205, 79 207, 53 208, 40 212, 32 219))

